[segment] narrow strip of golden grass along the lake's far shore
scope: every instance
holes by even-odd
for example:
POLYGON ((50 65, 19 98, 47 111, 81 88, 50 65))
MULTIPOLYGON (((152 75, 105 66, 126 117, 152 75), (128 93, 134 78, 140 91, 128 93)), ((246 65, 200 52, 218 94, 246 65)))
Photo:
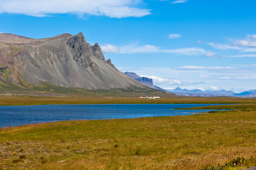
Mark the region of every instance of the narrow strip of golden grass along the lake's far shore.
POLYGON ((160 96, 161 99, 139 99, 134 96, 20 96, 0 95, 0 105, 42 105, 42 104, 172 104, 172 103, 221 103, 255 104, 256 98, 238 97, 187 97, 172 94, 139 94, 160 96))

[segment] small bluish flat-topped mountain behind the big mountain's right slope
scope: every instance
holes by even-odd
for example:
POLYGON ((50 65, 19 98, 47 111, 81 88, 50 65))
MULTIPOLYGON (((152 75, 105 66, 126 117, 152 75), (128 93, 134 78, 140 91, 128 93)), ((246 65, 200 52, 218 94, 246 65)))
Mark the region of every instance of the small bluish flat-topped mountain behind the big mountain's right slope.
POLYGON ((131 78, 137 80, 138 82, 140 82, 140 83, 146 85, 147 87, 155 88, 155 89, 157 89, 157 90, 166 91, 166 90, 164 90, 164 89, 161 88, 161 87, 155 86, 155 85, 153 84, 153 79, 147 78, 147 77, 145 77, 145 76, 141 77, 141 76, 137 75, 136 73, 132 73, 132 72, 128 72, 128 71, 126 71, 125 74, 126 74, 126 75, 129 75, 131 78))

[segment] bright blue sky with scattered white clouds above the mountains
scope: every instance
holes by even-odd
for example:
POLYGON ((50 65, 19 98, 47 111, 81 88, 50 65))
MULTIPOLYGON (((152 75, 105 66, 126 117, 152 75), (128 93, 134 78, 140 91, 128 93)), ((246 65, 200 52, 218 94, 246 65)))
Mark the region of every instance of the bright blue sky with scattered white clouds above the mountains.
POLYGON ((164 89, 256 90, 255 0, 0 0, 0 33, 82 32, 164 89))

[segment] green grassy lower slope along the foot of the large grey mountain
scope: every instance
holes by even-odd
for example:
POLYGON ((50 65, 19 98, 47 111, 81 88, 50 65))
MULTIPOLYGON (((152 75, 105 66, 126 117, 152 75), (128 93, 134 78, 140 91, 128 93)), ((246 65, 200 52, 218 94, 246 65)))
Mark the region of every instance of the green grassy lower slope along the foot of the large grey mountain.
MULTIPOLYGON (((8 68, 9 69, 9 68, 8 68)), ((7 70, 8 70, 7 69, 7 70)), ((10 70, 10 69, 9 69, 10 70)), ((113 88, 109 90, 88 90, 84 88, 72 88, 72 87, 61 87, 55 86, 47 82, 40 82, 37 85, 32 83, 27 83, 24 81, 22 76, 18 73, 19 84, 10 82, 9 74, 4 74, 0 81, 6 84, 4 91, 0 91, 0 94, 10 94, 10 95, 31 95, 31 96, 175 96, 173 94, 168 94, 167 92, 153 90, 151 88, 138 88, 135 86, 128 87, 126 89, 113 88)), ((0 87, 1 89, 1 87, 0 87)))

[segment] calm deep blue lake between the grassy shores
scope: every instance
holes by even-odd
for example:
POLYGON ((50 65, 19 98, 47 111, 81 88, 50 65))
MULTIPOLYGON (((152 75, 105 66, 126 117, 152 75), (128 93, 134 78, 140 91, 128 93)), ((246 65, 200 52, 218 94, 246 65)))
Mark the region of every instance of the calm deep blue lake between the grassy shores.
POLYGON ((0 128, 63 120, 182 116, 213 110, 173 110, 209 104, 89 104, 0 106, 0 128))

